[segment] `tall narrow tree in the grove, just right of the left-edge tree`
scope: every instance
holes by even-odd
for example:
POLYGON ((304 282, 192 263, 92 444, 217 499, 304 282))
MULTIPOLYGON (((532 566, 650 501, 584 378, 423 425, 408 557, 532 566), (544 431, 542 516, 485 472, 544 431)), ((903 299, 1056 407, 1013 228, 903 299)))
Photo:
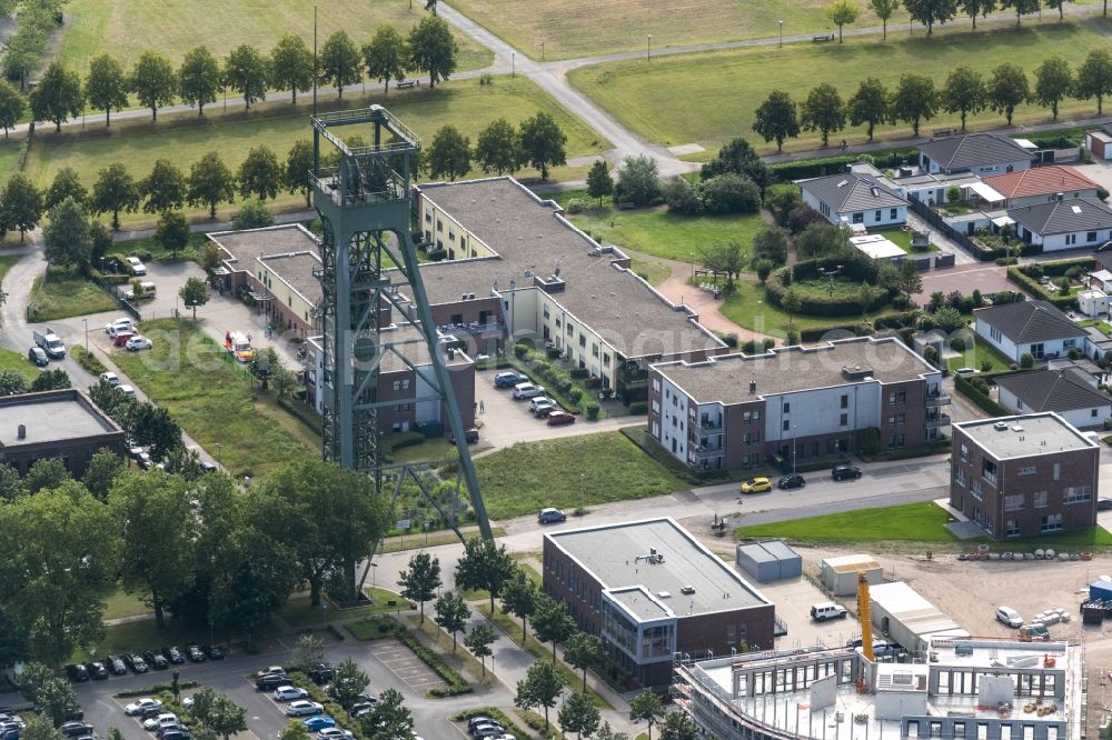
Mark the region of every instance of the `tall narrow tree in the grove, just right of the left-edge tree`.
POLYGON ((195 521, 189 499, 182 478, 157 469, 125 473, 108 492, 108 508, 123 543, 120 579, 129 593, 143 592, 158 629, 166 626, 167 601, 183 593, 192 577, 195 521))

